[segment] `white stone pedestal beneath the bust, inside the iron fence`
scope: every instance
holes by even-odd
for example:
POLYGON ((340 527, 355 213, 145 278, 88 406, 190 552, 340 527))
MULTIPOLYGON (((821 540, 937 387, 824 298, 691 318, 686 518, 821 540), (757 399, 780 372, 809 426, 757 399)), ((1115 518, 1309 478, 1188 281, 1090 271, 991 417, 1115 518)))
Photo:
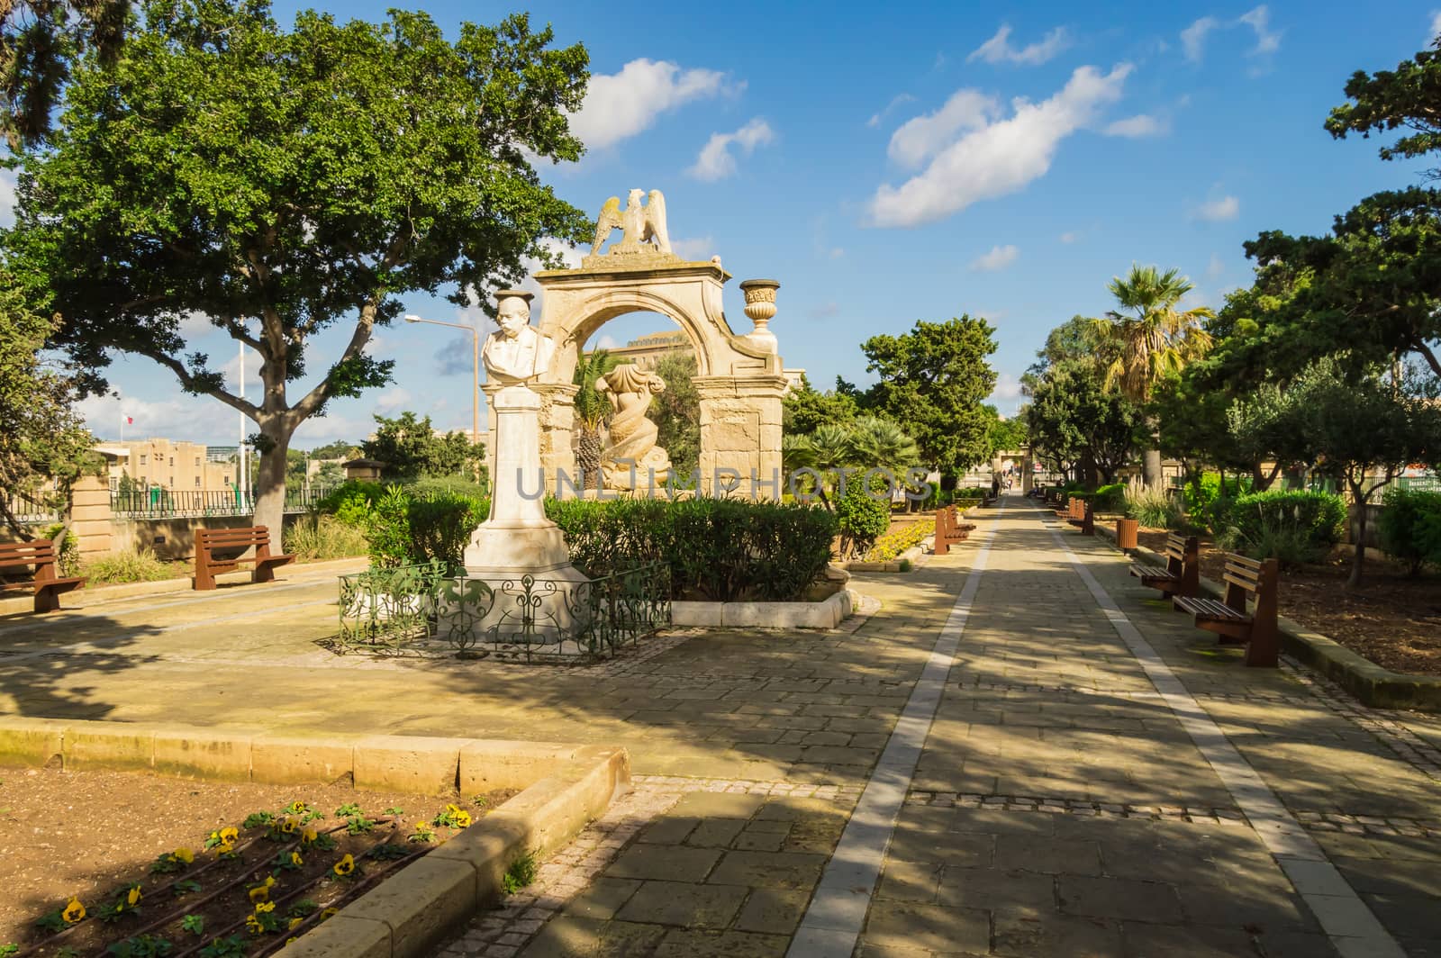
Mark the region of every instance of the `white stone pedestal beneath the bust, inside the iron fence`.
POLYGON ((490 517, 465 546, 465 579, 494 592, 471 630, 480 641, 556 644, 582 627, 589 579, 571 565, 561 527, 545 516, 540 474, 540 396, 523 383, 491 395, 496 474, 490 517), (523 579, 535 583, 526 586, 523 579), (493 634, 491 634, 493 632, 493 634))

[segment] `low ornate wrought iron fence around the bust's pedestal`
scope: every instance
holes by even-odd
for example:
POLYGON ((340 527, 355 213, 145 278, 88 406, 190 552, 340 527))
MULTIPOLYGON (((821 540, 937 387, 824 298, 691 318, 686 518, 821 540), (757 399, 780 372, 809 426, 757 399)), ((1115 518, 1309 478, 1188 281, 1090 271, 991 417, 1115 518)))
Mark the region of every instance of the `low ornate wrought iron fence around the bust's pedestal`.
POLYGON ((670 568, 582 582, 448 576, 440 560, 340 576, 339 651, 608 658, 670 624, 670 568))

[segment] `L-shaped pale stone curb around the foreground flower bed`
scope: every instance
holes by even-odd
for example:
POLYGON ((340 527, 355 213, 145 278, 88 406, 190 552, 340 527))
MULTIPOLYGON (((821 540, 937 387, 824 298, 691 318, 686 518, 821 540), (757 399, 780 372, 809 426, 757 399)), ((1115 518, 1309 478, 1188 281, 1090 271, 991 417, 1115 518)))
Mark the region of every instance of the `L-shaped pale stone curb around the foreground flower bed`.
POLYGON ((517 859, 558 850, 630 787, 630 755, 604 745, 272 736, 0 716, 0 764, 56 762, 269 784, 334 782, 349 774, 357 788, 424 794, 523 789, 284 948, 291 958, 434 955, 477 909, 500 896, 517 859))

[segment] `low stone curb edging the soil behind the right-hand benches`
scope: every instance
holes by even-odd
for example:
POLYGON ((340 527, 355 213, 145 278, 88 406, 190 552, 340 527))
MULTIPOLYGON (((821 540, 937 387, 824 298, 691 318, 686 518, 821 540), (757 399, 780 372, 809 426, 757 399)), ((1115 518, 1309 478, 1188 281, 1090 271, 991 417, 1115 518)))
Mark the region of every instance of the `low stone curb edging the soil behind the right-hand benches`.
MULTIPOLYGON (((1107 529, 1097 523, 1095 530, 1114 547, 1114 529, 1107 529)), ((1166 565, 1164 556, 1144 547, 1136 550, 1136 558, 1153 565, 1166 565)), ((1225 591, 1219 585, 1206 578, 1202 578, 1200 588, 1212 598, 1219 599, 1225 595, 1225 591)), ((1362 703, 1373 709, 1441 712, 1441 677, 1411 676, 1382 668, 1336 640, 1311 631, 1284 615, 1277 617, 1277 625, 1281 631, 1285 651, 1327 679, 1339 683, 1349 693, 1360 699, 1362 703)))

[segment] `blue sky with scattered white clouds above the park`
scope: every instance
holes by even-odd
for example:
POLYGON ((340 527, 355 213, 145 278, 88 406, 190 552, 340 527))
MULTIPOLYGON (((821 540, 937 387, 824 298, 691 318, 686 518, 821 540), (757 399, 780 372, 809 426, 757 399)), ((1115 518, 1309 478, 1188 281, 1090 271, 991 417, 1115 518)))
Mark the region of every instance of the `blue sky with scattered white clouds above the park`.
MULTIPOLYGON (((278 4, 281 22, 298 6, 278 4)), ((389 4, 321 6, 380 19, 389 4)), ((454 29, 512 7, 427 9, 454 29)), ((1353 71, 1392 68, 1428 45, 1432 6, 978 9, 533 6, 558 42, 586 45, 594 75, 575 120, 591 150, 543 176, 592 215, 631 187, 663 190, 679 251, 719 254, 735 275, 725 298, 733 328, 749 328, 741 279, 781 282, 771 330, 785 364, 817 386, 837 375, 870 382, 860 343, 876 333, 961 313, 989 318, 1003 412, 1016 408, 1016 380, 1046 331, 1107 310, 1107 282, 1131 262, 1177 267, 1197 287, 1192 304, 1219 305, 1249 282, 1241 243, 1257 232, 1320 232, 1362 196, 1418 179, 1422 164, 1382 163, 1376 140, 1333 141, 1321 122, 1353 71)), ((406 307, 484 321, 427 295, 406 307)), ((599 336, 623 343, 667 327, 631 315, 599 336)), ((372 412, 414 409, 468 428, 464 340, 434 327, 382 330, 375 352, 396 360, 395 385, 334 403, 297 445, 360 438, 372 412)), ((226 343, 197 340, 233 356, 226 343)), ((323 337, 317 357, 340 346, 323 337)), ((183 396, 146 360, 118 362, 112 382, 121 399, 85 405, 101 437, 131 415, 128 437, 235 442, 235 412, 183 396)))

